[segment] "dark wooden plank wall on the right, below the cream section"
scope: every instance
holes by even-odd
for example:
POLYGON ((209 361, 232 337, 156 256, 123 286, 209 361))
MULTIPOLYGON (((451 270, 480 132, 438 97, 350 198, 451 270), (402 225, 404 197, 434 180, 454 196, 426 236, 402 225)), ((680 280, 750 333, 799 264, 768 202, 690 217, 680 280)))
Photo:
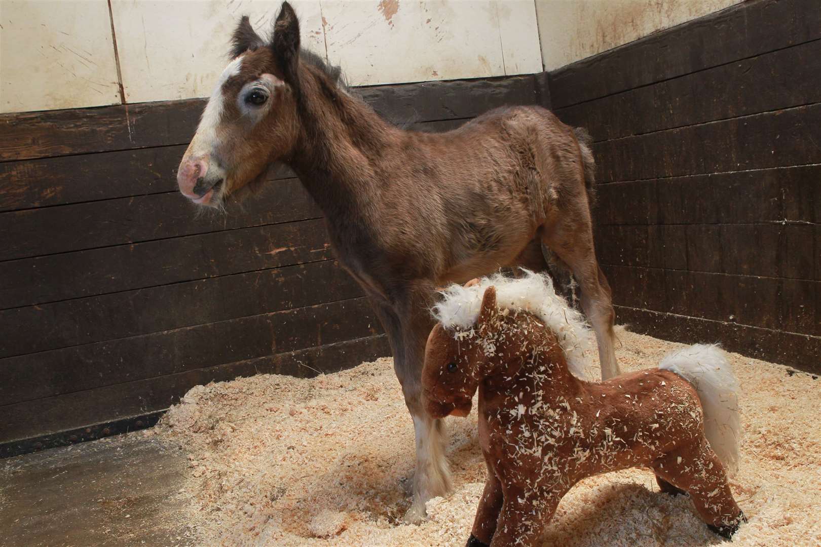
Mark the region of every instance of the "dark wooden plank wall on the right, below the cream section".
POLYGON ((753 0, 550 73, 617 322, 821 372, 819 39, 817 0, 753 0))

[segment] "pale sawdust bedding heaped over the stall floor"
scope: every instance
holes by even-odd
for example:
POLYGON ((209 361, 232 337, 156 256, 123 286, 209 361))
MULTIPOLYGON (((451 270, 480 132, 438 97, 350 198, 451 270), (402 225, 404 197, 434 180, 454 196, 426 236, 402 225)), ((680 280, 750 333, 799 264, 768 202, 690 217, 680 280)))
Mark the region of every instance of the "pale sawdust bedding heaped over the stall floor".
MULTIPOLYGON (((625 371, 683 344, 621 330, 625 371)), ((730 354, 741 380, 740 471, 749 523, 733 545, 821 545, 821 382, 730 354)), ((475 406, 475 405, 474 405, 475 406)), ((188 452, 181 491, 203 545, 464 545, 484 485, 475 415, 447 418, 454 490, 401 523, 413 426, 389 358, 310 380, 260 375, 197 386, 156 435, 188 452)), ((686 497, 651 472, 596 476, 562 499, 545 545, 716 545, 686 497)))

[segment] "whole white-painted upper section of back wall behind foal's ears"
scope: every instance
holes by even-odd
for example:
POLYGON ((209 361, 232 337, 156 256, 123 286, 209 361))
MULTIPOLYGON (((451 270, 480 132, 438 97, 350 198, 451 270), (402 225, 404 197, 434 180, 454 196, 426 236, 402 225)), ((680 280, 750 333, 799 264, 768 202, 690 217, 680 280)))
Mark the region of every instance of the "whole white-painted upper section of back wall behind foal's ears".
MULTIPOLYGON (((291 4, 302 46, 342 66, 351 85, 542 70, 533 2, 291 4)), ((241 16, 267 38, 280 5, 0 2, 0 112, 208 97, 241 16)))

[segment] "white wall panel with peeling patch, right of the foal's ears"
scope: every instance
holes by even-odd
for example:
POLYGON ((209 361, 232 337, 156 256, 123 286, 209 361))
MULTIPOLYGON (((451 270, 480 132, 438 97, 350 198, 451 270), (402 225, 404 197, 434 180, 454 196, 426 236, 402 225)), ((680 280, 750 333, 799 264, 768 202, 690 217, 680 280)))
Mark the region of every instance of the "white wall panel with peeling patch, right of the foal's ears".
POLYGON ((328 59, 353 85, 504 75, 495 2, 322 2, 328 59))

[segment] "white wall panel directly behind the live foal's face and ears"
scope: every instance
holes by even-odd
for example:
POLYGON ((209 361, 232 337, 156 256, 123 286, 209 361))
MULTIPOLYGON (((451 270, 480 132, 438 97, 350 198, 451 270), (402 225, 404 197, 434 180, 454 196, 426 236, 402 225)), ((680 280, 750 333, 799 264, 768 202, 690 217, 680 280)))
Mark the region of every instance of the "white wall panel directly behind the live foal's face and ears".
MULTIPOLYGON (((244 15, 264 39, 282 2, 112 2, 126 103, 206 97, 228 62, 244 15)), ((304 47, 323 53, 319 2, 291 2, 304 47)))

